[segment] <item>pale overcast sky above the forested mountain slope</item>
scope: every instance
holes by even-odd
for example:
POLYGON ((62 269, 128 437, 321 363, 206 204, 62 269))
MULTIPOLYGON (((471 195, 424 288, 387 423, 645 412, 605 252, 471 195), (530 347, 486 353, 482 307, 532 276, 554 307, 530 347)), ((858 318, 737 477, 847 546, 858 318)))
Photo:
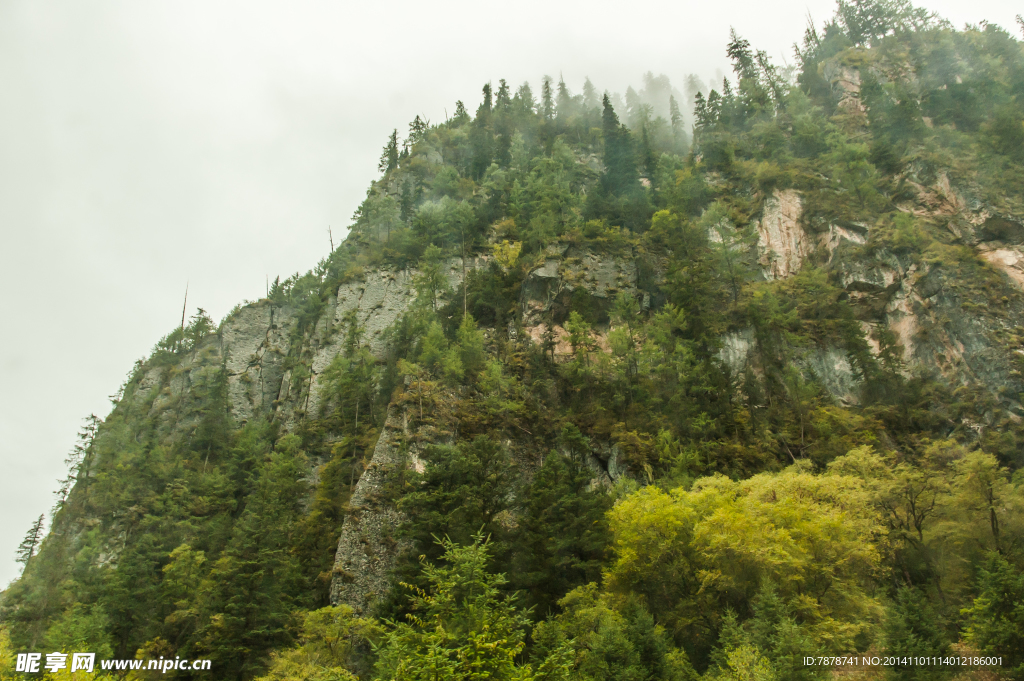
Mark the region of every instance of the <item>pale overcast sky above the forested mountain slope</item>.
MULTIPOLYGON (((943 0, 1017 33, 1008 0, 943 0)), ((728 71, 729 28, 793 62, 830 0, 0 0, 0 587, 83 417, 189 308, 215 321, 343 233, 388 133, 480 86, 579 92, 728 71)))

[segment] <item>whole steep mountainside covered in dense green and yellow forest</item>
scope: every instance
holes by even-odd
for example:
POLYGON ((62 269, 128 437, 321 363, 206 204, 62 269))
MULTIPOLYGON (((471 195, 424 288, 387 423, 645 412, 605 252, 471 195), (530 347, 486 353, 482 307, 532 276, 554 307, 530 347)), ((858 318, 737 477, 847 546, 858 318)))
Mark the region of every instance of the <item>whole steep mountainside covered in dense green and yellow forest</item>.
POLYGON ((841 0, 726 50, 396 129, 87 422, 0 679, 1024 679, 1024 44, 841 0), (805 664, 854 654, 902 659, 805 664))

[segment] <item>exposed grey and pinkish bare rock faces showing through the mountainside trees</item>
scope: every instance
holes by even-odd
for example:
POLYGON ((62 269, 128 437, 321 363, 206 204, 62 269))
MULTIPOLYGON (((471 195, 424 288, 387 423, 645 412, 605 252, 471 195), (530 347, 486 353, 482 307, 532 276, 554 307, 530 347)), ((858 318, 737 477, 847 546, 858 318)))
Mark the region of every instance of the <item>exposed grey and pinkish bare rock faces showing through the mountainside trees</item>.
MULTIPOLYGON (((919 201, 905 210, 941 211, 954 235, 949 248, 961 249, 953 261, 923 261, 909 252, 873 246, 870 230, 862 225, 830 224, 813 232, 806 227, 801 208, 801 196, 794 190, 776 191, 764 201, 752 254, 764 280, 794 276, 806 262, 821 264, 853 304, 872 352, 880 348, 874 340, 878 332, 891 332, 901 346, 907 375, 938 373, 950 385, 989 393, 1014 418, 1024 415, 1018 398, 1024 391, 1020 372, 1024 351, 1016 340, 1024 326, 1024 228, 1017 217, 993 216, 985 206, 964 199, 945 178, 935 186, 921 187, 919 201), (968 256, 973 256, 970 281, 961 261, 968 256)), ((484 258, 468 260, 467 271, 486 264, 484 258)), ((449 285, 458 291, 461 261, 447 261, 445 272, 449 285)), ((415 300, 416 274, 382 268, 340 286, 315 326, 298 336, 293 309, 269 301, 249 304, 229 316, 186 361, 171 370, 147 369, 126 397, 168 428, 185 432, 195 426, 195 418, 189 421, 187 409, 182 413, 180 407, 175 412, 166 406, 180 394, 208 389, 223 367, 230 414, 238 423, 271 416, 284 431, 295 430, 307 415, 321 413, 321 378, 341 352, 339 329, 346 315, 354 312, 366 329, 369 347, 383 361, 388 352, 385 332, 415 300), (286 369, 289 354, 303 357, 307 371, 286 369)), ((636 257, 568 245, 550 249, 522 283, 520 318, 494 332, 538 345, 553 338, 553 355, 564 361, 571 348, 563 325, 575 297, 577 306, 585 299, 598 317, 603 314, 605 326, 595 329, 595 337, 597 346, 608 351, 607 309, 618 292, 637 299, 641 309, 650 307, 650 293, 639 287, 636 257)), ((739 329, 723 336, 719 356, 738 376, 752 366, 756 346, 753 331, 739 329)), ((801 351, 801 370, 808 378, 818 380, 840 402, 857 402, 860 379, 846 349, 810 347, 801 351)), ((389 409, 341 529, 331 597, 360 611, 387 592, 388 571, 403 546, 396 539, 402 516, 394 500, 381 491, 397 467, 422 468, 419 444, 410 443, 408 421, 404 408, 389 409)), ((621 458, 616 448, 596 442, 595 473, 605 479, 617 477, 624 468, 621 458)))

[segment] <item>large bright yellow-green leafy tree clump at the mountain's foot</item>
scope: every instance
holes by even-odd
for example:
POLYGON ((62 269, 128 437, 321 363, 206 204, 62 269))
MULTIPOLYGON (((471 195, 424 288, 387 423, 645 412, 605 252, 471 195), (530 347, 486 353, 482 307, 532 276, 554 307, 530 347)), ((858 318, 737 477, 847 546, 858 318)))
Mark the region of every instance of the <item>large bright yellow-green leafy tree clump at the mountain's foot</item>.
POLYGON ((806 466, 646 487, 610 511, 608 588, 642 594, 677 636, 709 645, 709 623, 746 611, 769 580, 819 649, 854 649, 881 614, 872 580, 886 530, 869 499, 860 479, 806 466))

